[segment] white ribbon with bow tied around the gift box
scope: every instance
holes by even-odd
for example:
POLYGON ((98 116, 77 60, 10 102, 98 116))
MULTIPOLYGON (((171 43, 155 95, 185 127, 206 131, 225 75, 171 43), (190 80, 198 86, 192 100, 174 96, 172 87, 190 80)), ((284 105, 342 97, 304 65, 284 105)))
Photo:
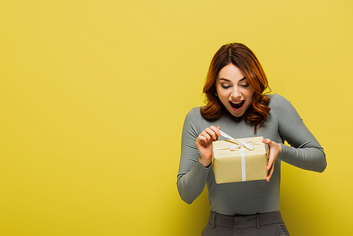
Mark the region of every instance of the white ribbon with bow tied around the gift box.
POLYGON ((241 155, 241 181, 245 182, 246 181, 246 167, 245 167, 245 152, 244 148, 247 148, 251 151, 255 148, 255 144, 264 144, 265 143, 253 143, 253 141, 246 141, 246 138, 243 138, 243 142, 236 140, 232 136, 229 136, 228 134, 225 134, 225 132, 220 130, 220 134, 225 137, 232 139, 237 145, 227 147, 227 148, 214 148, 213 150, 224 150, 224 149, 230 149, 230 151, 236 151, 238 148, 240 148, 240 155, 241 155))

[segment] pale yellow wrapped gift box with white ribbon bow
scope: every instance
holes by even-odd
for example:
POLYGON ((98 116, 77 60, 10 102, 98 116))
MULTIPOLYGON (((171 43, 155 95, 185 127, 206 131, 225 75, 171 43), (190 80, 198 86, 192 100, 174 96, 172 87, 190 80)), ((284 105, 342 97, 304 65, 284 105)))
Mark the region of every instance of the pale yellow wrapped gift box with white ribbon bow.
POLYGON ((212 165, 217 184, 266 179, 268 154, 263 137, 213 141, 212 165))

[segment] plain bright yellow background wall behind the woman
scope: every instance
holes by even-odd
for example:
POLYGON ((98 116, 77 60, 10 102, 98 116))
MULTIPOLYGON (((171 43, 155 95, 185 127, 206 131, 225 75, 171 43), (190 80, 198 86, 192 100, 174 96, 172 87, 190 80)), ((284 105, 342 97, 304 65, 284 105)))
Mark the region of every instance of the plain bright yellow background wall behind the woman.
POLYGON ((201 235, 177 192, 181 128, 210 59, 256 53, 325 148, 282 165, 291 235, 347 235, 352 1, 1 1, 0 235, 201 235))

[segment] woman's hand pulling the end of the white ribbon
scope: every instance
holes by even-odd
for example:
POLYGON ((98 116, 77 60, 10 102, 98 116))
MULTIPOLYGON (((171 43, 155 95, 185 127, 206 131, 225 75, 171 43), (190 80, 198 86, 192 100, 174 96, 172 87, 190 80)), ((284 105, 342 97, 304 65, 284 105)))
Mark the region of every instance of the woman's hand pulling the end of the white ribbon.
POLYGON ((198 161, 204 166, 208 167, 212 162, 212 142, 218 140, 220 134, 220 126, 210 126, 201 132, 196 138, 195 145, 200 153, 198 161))

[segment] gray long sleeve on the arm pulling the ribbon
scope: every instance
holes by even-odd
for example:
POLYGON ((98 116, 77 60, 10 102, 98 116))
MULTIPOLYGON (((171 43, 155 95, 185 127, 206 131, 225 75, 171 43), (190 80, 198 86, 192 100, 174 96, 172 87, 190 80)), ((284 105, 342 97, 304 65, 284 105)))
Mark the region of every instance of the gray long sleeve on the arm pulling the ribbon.
POLYGON ((191 110, 185 118, 181 136, 181 158, 177 187, 181 199, 192 203, 203 191, 211 167, 204 167, 198 162, 200 154, 195 146, 199 131, 196 130, 195 110, 191 110))

